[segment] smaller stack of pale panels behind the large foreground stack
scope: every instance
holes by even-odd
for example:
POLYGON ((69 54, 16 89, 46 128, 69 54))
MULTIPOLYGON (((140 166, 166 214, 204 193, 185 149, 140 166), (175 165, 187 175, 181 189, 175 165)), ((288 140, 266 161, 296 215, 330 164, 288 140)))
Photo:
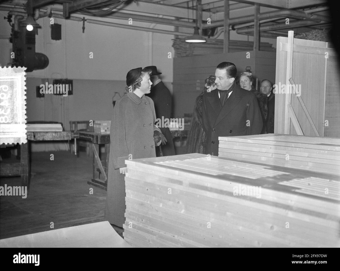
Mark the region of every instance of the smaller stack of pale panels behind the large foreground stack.
POLYGON ((218 156, 340 175, 340 139, 287 134, 219 137, 218 156))

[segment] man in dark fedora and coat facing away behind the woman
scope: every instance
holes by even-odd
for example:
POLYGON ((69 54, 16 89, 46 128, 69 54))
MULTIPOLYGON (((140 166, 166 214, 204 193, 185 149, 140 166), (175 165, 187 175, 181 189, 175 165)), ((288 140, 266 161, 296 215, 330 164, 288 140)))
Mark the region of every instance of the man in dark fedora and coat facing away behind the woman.
MULTIPOLYGON (((152 99, 155 105, 156 118, 162 120, 162 116, 163 116, 164 119, 170 120, 171 118, 171 94, 170 94, 169 89, 164 85, 164 83, 158 76, 162 73, 157 71, 156 66, 148 66, 148 67, 145 67, 145 69, 152 71, 150 75, 150 80, 152 82, 151 92, 146 95, 152 99)), ((162 145, 163 156, 175 155, 175 148, 173 146, 173 141, 172 141, 169 127, 160 127, 160 130, 162 131, 165 138, 167 139, 167 144, 162 145)), ((159 147, 156 147, 156 156, 157 157, 160 156, 159 147)))

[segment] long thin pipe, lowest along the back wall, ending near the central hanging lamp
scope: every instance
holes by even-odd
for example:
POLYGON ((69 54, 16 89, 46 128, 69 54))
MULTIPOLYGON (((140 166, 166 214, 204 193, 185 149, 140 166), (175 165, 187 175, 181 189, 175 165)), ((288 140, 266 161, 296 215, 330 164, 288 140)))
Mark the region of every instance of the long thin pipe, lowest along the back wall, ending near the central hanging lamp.
MULTIPOLYGON (((43 15, 43 12, 41 12, 41 15, 43 15)), ((24 15, 26 12, 8 12, 10 15, 24 15)), ((65 19, 62 14, 52 13, 52 17, 54 18, 61 18, 65 19)), ((76 17, 76 16, 70 16, 67 20, 72 21, 83 21, 83 18, 76 17)), ((148 32, 154 32, 154 33, 161 33, 161 34, 168 34, 168 35, 179 35, 179 36, 187 36, 188 33, 183 32, 177 32, 177 31, 168 31, 168 30, 161 30, 161 29, 150 29, 146 27, 139 27, 139 26, 133 26, 129 24, 119 24, 119 23, 112 23, 112 22, 105 22, 100 20, 92 20, 92 19, 86 19, 87 23, 94 23, 94 24, 100 24, 100 25, 107 25, 107 26, 114 26, 119 28, 126 28, 126 29, 134 29, 134 30, 141 30, 141 31, 148 31, 148 32)))

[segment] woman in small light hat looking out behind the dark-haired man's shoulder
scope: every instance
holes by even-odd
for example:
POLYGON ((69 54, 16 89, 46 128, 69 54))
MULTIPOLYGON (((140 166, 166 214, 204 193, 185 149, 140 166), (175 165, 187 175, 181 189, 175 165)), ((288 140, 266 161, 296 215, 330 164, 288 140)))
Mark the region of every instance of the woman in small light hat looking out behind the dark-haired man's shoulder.
POLYGON ((267 95, 258 92, 255 87, 253 86, 253 76, 251 72, 242 72, 239 75, 239 83, 240 87, 246 90, 249 90, 254 93, 257 99, 258 106, 261 111, 262 116, 262 130, 261 134, 266 133, 266 123, 268 118, 268 108, 267 108, 267 95))

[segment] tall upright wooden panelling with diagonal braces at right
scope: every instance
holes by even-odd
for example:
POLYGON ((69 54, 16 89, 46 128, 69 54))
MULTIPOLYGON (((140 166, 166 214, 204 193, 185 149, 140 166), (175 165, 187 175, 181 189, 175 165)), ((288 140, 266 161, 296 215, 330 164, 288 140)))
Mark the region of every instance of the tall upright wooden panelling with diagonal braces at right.
POLYGON ((277 37, 275 84, 275 133, 339 137, 340 67, 334 45, 293 38, 293 31, 277 37), (280 91, 283 85, 300 86, 299 95, 280 91))

